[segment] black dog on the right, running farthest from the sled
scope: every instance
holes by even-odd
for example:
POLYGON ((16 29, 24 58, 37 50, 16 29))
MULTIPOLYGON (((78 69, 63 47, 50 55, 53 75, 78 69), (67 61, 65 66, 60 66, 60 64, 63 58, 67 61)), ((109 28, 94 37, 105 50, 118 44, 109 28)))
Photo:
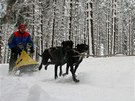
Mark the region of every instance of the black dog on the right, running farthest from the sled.
POLYGON ((78 44, 76 48, 71 49, 67 52, 67 67, 66 67, 66 73, 63 75, 68 74, 68 69, 70 67, 70 71, 72 73, 73 80, 75 82, 79 82, 79 80, 76 79, 75 72, 79 66, 79 64, 83 60, 83 53, 87 52, 89 49, 89 46, 86 44, 78 44))

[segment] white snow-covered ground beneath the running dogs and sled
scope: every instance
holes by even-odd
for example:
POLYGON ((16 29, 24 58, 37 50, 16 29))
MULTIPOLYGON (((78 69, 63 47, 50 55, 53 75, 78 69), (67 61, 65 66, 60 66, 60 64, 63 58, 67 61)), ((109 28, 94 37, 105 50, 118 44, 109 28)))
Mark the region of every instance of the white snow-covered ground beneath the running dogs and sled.
MULTIPOLYGON (((135 57, 86 58, 71 74, 54 79, 54 66, 23 76, 0 65, 0 101, 135 101, 135 57)), ((65 66, 63 66, 65 71, 65 66)))

